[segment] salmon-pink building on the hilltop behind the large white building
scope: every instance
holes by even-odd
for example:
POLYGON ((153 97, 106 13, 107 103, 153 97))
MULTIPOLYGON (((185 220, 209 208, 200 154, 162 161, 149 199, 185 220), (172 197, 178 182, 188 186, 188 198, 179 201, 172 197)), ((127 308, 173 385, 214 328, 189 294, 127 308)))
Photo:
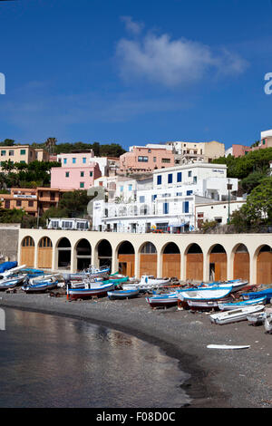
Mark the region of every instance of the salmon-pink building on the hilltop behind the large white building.
POLYGON ((145 147, 133 146, 129 152, 120 156, 120 171, 152 171, 175 166, 175 157, 171 148, 160 145, 145 147))

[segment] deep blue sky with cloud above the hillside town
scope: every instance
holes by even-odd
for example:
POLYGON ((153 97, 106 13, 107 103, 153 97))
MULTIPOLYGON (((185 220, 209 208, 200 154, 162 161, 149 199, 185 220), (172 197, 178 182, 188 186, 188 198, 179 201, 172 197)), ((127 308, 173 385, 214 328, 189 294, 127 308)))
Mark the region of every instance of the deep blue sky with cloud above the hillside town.
POLYGON ((0 2, 0 140, 250 145, 272 128, 270 0, 0 2))

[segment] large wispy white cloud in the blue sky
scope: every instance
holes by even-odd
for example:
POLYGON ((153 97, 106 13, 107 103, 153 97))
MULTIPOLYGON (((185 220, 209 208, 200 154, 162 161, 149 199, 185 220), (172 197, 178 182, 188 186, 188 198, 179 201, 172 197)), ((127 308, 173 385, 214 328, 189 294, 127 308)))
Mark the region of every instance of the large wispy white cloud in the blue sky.
POLYGON ((146 34, 137 40, 121 39, 116 56, 124 80, 142 78, 168 87, 198 82, 212 75, 243 73, 248 63, 236 53, 219 52, 206 44, 185 38, 172 40, 169 34, 146 34))

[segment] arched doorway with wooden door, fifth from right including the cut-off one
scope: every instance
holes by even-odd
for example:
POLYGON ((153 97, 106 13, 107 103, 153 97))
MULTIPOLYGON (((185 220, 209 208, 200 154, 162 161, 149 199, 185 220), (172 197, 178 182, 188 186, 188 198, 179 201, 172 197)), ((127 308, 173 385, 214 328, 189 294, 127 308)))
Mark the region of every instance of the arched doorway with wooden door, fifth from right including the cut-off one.
POLYGON ((180 248, 175 243, 169 243, 163 249, 162 276, 180 279, 180 248))

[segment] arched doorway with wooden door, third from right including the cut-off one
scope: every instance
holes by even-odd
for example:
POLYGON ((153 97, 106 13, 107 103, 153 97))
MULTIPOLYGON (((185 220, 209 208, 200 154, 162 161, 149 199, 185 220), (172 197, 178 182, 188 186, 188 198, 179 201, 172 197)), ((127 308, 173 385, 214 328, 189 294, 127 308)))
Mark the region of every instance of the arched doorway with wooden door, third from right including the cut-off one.
POLYGON ((210 281, 225 281, 227 279, 227 253, 223 246, 216 244, 209 254, 210 281))

